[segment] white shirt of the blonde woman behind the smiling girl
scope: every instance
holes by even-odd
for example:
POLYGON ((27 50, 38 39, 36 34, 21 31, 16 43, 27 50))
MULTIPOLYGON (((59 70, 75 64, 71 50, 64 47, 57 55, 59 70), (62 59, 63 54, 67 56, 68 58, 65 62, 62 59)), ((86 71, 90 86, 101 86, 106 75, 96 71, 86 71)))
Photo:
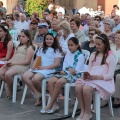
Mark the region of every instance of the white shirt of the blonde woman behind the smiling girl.
POLYGON ((60 46, 62 47, 63 52, 65 52, 65 53, 69 51, 68 40, 71 37, 75 37, 73 33, 70 33, 66 39, 64 39, 64 36, 60 37, 59 43, 60 43, 60 46))

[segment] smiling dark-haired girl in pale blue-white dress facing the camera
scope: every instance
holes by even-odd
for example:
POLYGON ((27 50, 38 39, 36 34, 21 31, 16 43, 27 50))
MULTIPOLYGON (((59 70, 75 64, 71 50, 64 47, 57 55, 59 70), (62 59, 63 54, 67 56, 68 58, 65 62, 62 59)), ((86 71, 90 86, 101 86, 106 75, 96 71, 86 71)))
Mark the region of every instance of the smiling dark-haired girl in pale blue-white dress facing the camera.
POLYGON ((43 48, 37 52, 37 57, 40 56, 42 59, 41 66, 35 68, 35 59, 32 68, 23 74, 24 82, 36 97, 36 106, 41 104, 41 81, 44 78, 51 77, 52 74, 50 73, 55 72, 55 68, 60 65, 61 53, 62 49, 57 40, 51 33, 47 33, 44 36, 43 48))

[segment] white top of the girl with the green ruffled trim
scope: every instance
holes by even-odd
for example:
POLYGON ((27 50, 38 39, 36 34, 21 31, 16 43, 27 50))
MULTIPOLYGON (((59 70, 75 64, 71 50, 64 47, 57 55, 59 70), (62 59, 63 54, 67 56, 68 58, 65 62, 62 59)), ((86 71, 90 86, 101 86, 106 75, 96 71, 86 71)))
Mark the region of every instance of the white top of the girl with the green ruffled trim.
MULTIPOLYGON (((69 66, 73 67, 74 56, 75 56, 75 53, 68 52, 66 54, 64 62, 63 62, 63 70, 65 70, 69 66)), ((85 61, 85 59, 84 59, 83 54, 80 54, 78 56, 78 62, 77 62, 77 65, 75 67, 75 70, 77 72, 80 72, 80 71, 84 70, 84 61, 85 61)))

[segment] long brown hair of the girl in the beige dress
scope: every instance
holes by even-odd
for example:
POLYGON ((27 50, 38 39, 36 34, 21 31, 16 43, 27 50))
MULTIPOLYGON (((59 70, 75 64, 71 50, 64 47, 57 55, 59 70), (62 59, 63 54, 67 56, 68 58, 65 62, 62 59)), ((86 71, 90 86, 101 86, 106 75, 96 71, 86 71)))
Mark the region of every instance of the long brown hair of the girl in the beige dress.
MULTIPOLYGON (((23 30, 21 30, 21 33, 24 33, 25 36, 27 36, 27 38, 29 39, 26 48, 28 48, 29 46, 32 46, 32 48, 34 49, 34 46, 33 46, 33 44, 32 44, 31 34, 30 34, 29 30, 23 29, 23 30)), ((23 44, 20 43, 20 44, 18 45, 18 47, 20 47, 20 46, 22 46, 22 45, 23 45, 23 44)), ((17 48, 18 48, 18 47, 17 47, 17 48)))

